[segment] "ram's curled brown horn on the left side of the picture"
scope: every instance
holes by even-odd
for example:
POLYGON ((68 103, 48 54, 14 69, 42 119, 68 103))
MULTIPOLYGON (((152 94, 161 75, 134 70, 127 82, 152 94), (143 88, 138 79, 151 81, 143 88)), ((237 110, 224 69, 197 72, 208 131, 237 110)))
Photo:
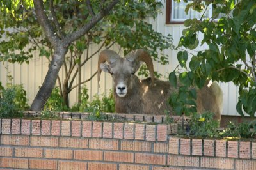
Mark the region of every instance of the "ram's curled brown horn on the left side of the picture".
POLYGON ((100 64, 105 63, 106 61, 108 63, 113 63, 116 58, 120 58, 120 56, 113 50, 103 50, 100 52, 99 60, 98 60, 98 86, 100 87, 100 74, 101 74, 101 68, 100 64))

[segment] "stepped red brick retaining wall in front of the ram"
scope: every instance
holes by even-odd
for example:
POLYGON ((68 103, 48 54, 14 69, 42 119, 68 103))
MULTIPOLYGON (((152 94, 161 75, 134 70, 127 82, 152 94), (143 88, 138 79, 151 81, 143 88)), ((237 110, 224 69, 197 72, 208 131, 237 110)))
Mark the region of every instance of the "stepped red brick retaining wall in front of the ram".
POLYGON ((139 117, 150 123, 0 119, 0 169, 256 169, 255 141, 174 137, 139 117))

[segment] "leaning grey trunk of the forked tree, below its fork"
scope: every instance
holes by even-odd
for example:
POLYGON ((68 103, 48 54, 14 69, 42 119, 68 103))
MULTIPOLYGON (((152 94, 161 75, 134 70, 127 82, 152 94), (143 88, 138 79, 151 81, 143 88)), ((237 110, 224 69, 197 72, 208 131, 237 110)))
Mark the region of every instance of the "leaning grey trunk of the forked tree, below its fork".
POLYGON ((67 54, 68 48, 59 45, 54 51, 54 56, 51 61, 49 70, 45 76, 44 82, 36 94, 33 103, 31 104, 31 111, 42 111, 47 99, 52 93, 52 89, 55 86, 58 72, 60 71, 61 66, 63 65, 65 55, 67 54))

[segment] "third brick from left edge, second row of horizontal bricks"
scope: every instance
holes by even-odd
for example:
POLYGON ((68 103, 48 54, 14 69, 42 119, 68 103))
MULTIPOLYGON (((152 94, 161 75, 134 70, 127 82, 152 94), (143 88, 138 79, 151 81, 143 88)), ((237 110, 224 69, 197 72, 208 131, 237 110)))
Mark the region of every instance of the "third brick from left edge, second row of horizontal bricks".
POLYGON ((59 150, 59 149, 45 149, 44 157, 45 158, 60 158, 60 159, 72 159, 72 150, 59 150))

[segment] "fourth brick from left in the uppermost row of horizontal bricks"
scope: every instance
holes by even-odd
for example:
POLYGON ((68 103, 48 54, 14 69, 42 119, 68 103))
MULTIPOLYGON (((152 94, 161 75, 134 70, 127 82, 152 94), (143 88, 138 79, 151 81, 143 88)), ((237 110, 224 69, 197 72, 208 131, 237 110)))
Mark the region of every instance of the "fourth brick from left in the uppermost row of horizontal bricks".
POLYGON ((117 139, 89 139, 89 148, 95 150, 118 150, 117 139))

